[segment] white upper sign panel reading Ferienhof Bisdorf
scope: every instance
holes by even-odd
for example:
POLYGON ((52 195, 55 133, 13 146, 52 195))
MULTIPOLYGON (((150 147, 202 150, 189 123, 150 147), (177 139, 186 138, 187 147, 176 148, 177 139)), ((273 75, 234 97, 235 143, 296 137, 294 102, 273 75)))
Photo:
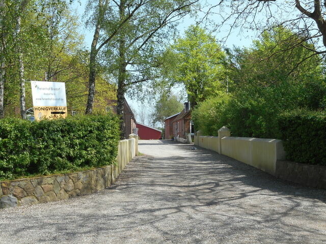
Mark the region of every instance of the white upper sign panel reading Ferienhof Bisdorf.
POLYGON ((33 106, 67 106, 64 82, 31 81, 33 106))

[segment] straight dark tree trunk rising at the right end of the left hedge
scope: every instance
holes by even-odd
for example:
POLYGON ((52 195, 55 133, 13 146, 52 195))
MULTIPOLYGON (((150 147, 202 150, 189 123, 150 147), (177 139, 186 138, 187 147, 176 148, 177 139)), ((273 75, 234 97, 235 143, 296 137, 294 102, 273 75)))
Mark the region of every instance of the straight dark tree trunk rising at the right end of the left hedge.
MULTIPOLYGON (((119 14, 120 20, 125 18, 125 0, 120 1, 119 14)), ((117 114, 120 115, 120 130, 121 139, 125 139, 126 135, 126 124, 124 121, 124 102, 125 102, 125 79, 126 79, 126 60, 125 60, 125 49, 126 41, 124 31, 121 31, 119 35, 119 74, 118 74, 118 90, 117 90, 117 114)))

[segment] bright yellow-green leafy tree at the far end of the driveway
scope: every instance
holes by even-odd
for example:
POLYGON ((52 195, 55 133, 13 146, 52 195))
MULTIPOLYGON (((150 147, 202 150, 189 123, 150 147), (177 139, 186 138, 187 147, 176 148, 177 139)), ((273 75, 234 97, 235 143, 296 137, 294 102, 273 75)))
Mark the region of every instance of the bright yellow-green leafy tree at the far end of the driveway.
POLYGON ((205 29, 192 25, 169 47, 163 75, 185 86, 191 106, 226 92, 225 52, 205 29))

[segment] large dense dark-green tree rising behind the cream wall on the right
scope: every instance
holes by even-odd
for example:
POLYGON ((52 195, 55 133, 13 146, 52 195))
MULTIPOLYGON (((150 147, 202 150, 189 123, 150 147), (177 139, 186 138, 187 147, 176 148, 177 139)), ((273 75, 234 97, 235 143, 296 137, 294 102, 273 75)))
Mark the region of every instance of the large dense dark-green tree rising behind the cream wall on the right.
MULTIPOLYGON (((235 87, 223 120, 236 135, 277 138, 275 128, 280 113, 325 108, 322 62, 318 56, 313 56, 297 67, 298 60, 313 51, 301 46, 285 52, 280 43, 288 35, 293 34, 284 31, 283 27, 274 28, 263 33, 250 48, 236 51, 230 72, 235 87), (266 59, 270 56, 270 47, 276 45, 278 49, 273 52, 282 51, 266 59)), ((305 45, 309 46, 308 43, 305 45)))

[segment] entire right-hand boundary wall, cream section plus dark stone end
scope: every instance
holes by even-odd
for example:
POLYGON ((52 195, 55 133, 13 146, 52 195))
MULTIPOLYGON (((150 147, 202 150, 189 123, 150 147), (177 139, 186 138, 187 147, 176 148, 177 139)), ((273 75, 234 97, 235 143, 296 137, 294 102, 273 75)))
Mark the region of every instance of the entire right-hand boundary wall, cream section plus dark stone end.
POLYGON ((304 186, 326 189, 326 167, 285 161, 283 142, 278 139, 231 137, 223 127, 219 136, 195 135, 195 145, 216 151, 261 169, 278 178, 304 186))

